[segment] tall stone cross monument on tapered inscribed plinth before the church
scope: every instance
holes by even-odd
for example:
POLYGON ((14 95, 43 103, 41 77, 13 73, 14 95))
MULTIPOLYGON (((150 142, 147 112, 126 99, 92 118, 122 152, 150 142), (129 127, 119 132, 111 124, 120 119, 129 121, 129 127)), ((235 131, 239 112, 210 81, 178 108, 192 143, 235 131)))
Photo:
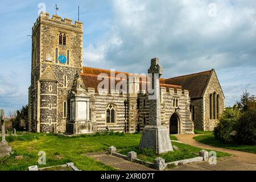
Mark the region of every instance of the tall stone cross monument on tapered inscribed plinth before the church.
POLYGON ((150 125, 143 129, 139 149, 152 148, 157 154, 173 151, 167 128, 161 125, 161 104, 159 78, 162 75, 162 66, 159 58, 151 59, 148 76, 151 87, 148 88, 148 101, 150 102, 150 125))

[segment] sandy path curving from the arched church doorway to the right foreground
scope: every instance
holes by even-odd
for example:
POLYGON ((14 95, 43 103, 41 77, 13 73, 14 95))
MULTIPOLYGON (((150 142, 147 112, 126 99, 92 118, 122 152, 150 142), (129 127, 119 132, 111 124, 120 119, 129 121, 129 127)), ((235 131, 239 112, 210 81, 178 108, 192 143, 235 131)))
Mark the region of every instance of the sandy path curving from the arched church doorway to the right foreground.
POLYGON ((175 135, 178 140, 191 146, 226 152, 234 155, 232 158, 220 158, 217 165, 210 165, 208 162, 191 163, 172 170, 256 170, 256 154, 230 150, 226 148, 213 147, 197 142, 193 139, 198 135, 175 135))

